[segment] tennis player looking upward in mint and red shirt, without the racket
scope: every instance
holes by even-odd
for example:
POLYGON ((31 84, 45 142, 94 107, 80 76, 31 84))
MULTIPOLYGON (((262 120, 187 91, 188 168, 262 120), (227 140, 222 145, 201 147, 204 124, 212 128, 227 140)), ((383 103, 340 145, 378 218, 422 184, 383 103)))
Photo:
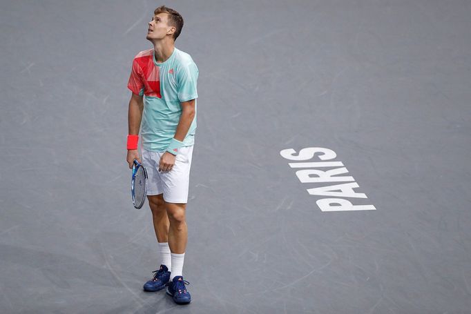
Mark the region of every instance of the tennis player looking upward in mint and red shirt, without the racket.
POLYGON ((177 304, 191 302, 183 279, 187 241, 185 219, 191 156, 195 141, 198 68, 189 54, 175 48, 183 18, 160 6, 148 23, 153 49, 133 59, 128 88, 129 168, 137 159, 148 173, 147 198, 160 248, 160 267, 145 291, 166 292, 177 304), (141 128, 142 160, 137 143, 141 128))

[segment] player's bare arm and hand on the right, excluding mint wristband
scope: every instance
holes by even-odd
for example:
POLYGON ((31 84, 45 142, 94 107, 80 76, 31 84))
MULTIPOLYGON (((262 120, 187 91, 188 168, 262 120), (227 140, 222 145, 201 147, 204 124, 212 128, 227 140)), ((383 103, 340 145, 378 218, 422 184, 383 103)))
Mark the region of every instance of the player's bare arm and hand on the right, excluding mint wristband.
MULTIPOLYGON (((180 121, 178 121, 177 130, 174 139, 178 141, 183 141, 185 139, 186 133, 190 129, 191 122, 195 118, 195 99, 189 101, 182 101, 182 115, 180 116, 180 121)), ((172 155, 169 152, 165 152, 164 155, 160 158, 159 171, 170 171, 175 164, 175 155, 172 155)))

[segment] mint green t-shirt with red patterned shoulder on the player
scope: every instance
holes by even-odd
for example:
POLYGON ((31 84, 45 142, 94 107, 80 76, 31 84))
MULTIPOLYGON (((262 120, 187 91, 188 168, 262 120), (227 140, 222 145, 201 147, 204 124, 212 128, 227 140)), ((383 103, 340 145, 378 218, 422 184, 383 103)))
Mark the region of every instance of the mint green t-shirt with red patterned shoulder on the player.
MULTIPOLYGON (((197 110, 198 67, 189 54, 174 48, 169 59, 155 60, 154 50, 139 52, 133 60, 128 88, 144 95, 141 138, 146 150, 163 152, 169 146, 182 115, 182 101, 195 99, 197 110)), ((195 143, 196 114, 183 146, 195 143)))

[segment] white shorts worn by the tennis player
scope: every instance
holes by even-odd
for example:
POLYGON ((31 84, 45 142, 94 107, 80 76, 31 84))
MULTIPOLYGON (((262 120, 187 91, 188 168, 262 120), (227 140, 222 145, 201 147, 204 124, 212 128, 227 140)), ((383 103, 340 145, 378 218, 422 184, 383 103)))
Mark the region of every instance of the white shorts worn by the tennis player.
POLYGON ((142 149, 142 165, 147 170, 147 195, 164 194, 167 203, 186 204, 190 183, 193 145, 178 149, 175 164, 170 171, 159 172, 160 157, 165 152, 151 152, 142 149))

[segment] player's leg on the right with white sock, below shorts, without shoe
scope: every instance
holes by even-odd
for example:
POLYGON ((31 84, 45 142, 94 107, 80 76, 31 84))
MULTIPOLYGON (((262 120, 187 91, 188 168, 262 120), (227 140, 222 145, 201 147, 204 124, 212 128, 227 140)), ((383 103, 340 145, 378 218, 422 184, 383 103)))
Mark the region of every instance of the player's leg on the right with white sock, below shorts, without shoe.
POLYGON ((184 253, 188 240, 186 204, 165 203, 170 221, 169 246, 172 255, 172 278, 182 276, 184 253), (175 262, 175 264, 173 264, 175 262))

